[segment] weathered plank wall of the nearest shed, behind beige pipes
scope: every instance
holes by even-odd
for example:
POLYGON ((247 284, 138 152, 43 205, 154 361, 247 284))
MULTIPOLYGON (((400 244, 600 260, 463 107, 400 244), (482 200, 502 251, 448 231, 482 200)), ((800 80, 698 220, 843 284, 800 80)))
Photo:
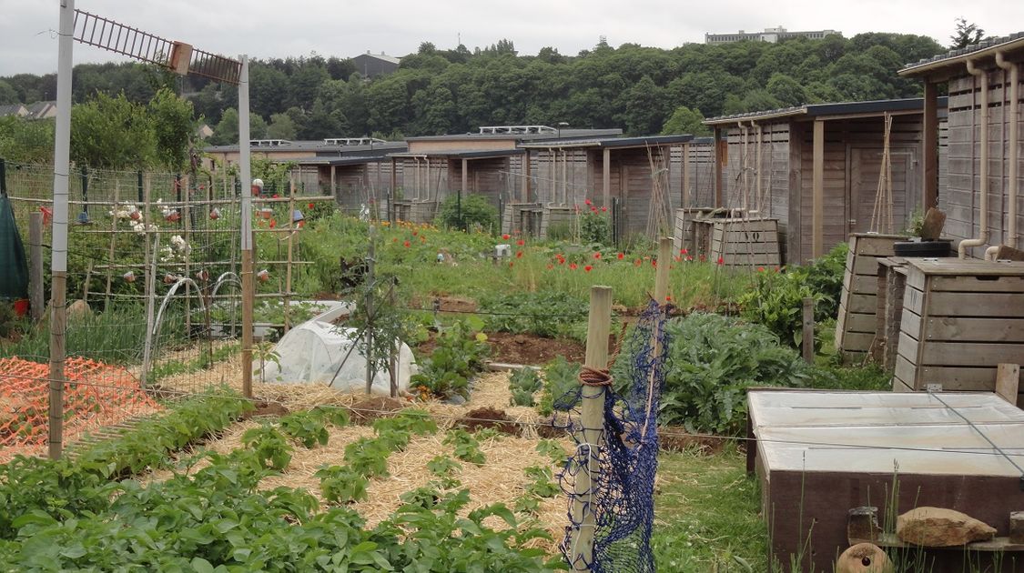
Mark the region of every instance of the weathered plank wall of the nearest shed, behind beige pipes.
MULTIPOLYGON (((1020 64, 1018 64, 1020 65, 1020 64)), ((1006 241, 1009 224, 1010 118, 1009 72, 989 73, 988 224, 989 245, 1006 241)), ((1018 88, 1024 96, 1024 89, 1018 88)), ((946 212, 945 234, 964 239, 980 234, 981 83, 973 76, 949 82, 949 134, 945 185, 939 186, 939 208, 946 212)), ((1024 129, 1024 119, 1018 117, 1024 129)), ((1024 137, 1018 150, 1018 188, 1024 190, 1024 137)), ((940 156, 940 167, 942 159, 940 156)), ((1017 228, 1024 230, 1024 196, 1018 201, 1017 228)), ((984 248, 974 250, 981 257, 984 248)))

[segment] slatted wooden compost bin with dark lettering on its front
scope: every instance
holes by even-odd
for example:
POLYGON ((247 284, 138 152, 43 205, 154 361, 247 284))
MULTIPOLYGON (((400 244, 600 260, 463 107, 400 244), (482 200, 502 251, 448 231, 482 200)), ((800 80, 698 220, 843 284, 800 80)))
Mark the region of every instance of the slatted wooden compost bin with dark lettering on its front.
POLYGON ((727 267, 779 266, 777 219, 713 219, 708 258, 727 267))

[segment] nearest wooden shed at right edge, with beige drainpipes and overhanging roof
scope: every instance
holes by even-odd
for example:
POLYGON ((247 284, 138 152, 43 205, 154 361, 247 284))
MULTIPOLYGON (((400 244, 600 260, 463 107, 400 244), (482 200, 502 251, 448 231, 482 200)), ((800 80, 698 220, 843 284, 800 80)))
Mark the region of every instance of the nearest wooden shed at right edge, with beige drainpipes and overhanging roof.
POLYGON ((995 256, 999 246, 1021 249, 1021 65, 1024 32, 984 40, 910 63, 900 76, 925 83, 924 146, 918 169, 925 181, 924 206, 946 213, 945 232, 975 238, 964 255, 995 256), (941 86, 948 88, 948 176, 937 177, 943 119, 941 86))

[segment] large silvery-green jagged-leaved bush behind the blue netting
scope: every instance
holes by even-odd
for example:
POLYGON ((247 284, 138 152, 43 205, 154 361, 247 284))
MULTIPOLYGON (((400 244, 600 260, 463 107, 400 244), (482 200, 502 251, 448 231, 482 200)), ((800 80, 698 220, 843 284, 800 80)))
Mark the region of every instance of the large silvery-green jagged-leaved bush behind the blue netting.
MULTIPOLYGON (((719 314, 693 313, 667 322, 669 337, 665 389, 658 423, 690 432, 738 435, 746 425, 746 389, 752 386, 806 386, 811 367, 761 324, 719 314)), ((629 339, 627 339, 629 340, 629 339)), ((624 392, 635 343, 623 347, 612 366, 624 392)))

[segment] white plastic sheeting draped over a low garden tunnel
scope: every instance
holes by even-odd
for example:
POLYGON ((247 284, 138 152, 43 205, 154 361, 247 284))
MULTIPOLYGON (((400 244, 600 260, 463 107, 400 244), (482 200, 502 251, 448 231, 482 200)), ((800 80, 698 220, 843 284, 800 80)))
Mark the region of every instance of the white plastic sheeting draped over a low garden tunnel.
MULTIPOLYGON (((279 363, 253 361, 254 378, 284 384, 325 384, 342 391, 366 391, 367 359, 355 344, 355 328, 333 323, 339 316, 351 312, 350 304, 340 304, 292 328, 273 347, 279 363), (349 352, 351 350, 351 352, 349 352), (346 358, 347 355, 347 358, 346 358), (332 382, 333 381, 333 382, 332 382)), ((398 350, 398 391, 409 388, 409 379, 416 373, 413 350, 401 344, 398 350)), ((390 394, 388 371, 374 372, 373 393, 390 394)))

